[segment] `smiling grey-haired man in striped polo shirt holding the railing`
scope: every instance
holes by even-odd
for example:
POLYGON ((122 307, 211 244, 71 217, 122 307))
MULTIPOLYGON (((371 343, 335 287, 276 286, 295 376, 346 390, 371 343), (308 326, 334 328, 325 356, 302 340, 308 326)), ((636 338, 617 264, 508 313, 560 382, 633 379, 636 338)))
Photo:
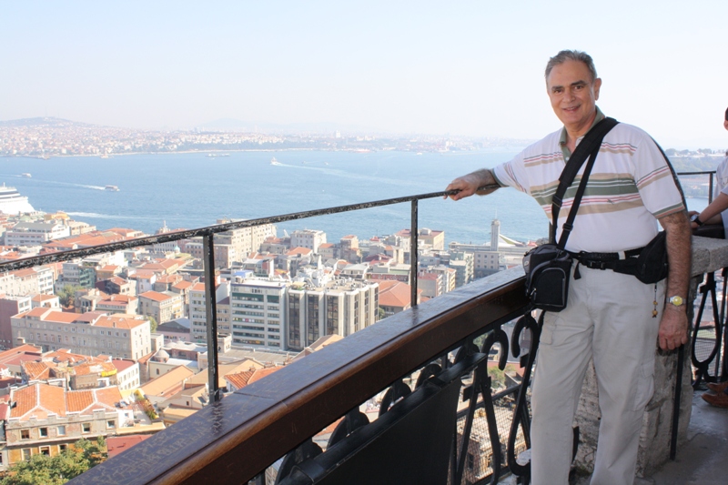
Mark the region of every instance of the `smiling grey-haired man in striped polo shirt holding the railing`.
MULTIPOLYGON (((591 56, 561 51, 551 57, 545 76, 563 128, 508 163, 456 178, 447 189, 460 192, 450 198, 490 193, 478 188, 492 184, 516 187, 535 197, 551 220, 551 196, 565 162, 604 116, 596 106, 602 79, 591 56)), ((572 192, 564 197, 557 240, 572 198, 572 192)), ((581 264, 579 278, 571 278, 568 307, 545 314, 531 399, 531 476, 534 485, 568 482, 571 426, 593 359, 602 423, 591 484, 631 484, 642 414, 652 397, 656 344, 672 350, 687 341, 690 225, 659 148, 640 128, 622 123, 602 141, 577 214, 566 248, 587 253, 585 260, 644 247, 659 221, 667 231, 670 271, 667 281, 645 285, 632 275, 581 264)))

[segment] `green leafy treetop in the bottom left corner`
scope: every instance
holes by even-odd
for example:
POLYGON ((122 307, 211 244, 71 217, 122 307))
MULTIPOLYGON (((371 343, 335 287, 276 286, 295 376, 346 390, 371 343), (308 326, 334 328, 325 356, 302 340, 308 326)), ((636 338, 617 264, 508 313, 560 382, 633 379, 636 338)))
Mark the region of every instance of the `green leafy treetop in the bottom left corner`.
POLYGON ((5 471, 0 485, 61 485, 106 460, 106 440, 78 440, 55 457, 34 455, 5 471))

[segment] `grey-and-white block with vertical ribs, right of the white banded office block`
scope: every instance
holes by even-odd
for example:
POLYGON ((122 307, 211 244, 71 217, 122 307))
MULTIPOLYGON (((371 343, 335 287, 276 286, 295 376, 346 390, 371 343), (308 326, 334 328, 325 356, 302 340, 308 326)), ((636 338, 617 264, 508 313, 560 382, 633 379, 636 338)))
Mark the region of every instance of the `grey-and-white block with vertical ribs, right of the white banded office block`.
POLYGON ((327 335, 346 337, 377 321, 379 284, 338 279, 288 289, 286 348, 302 350, 327 335))

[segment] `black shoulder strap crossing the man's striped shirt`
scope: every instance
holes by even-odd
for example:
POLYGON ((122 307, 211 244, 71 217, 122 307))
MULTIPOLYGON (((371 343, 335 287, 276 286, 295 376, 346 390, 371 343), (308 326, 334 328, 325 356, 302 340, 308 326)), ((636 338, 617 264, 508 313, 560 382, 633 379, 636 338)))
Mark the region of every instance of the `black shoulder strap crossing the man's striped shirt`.
MULTIPOLYGON (((576 178, 576 174, 579 172, 579 169, 582 165, 584 165, 586 158, 589 157, 592 153, 594 154, 594 158, 596 158, 596 153, 599 153, 599 148, 602 146, 602 140, 604 139, 604 136, 606 136, 607 133, 609 133, 610 130, 618 123, 619 122, 616 119, 611 117, 605 117, 604 119, 602 119, 602 121, 597 123, 596 126, 591 128, 591 130, 589 130, 589 133, 584 136, 579 146, 576 147, 576 149, 574 150, 574 153, 571 154, 569 161, 566 163, 566 167, 563 167, 563 171, 561 172, 561 176, 559 177, 559 187, 556 189, 556 193, 551 197, 552 222, 551 234, 549 235, 551 243, 554 243, 556 241, 556 227, 559 219, 561 205, 563 204, 563 196, 564 194, 566 194, 566 189, 571 186, 571 183, 574 181, 574 178, 576 178)), ((581 178, 584 186, 586 186, 586 179, 588 177, 589 174, 585 172, 584 176, 581 178)), ((583 190, 581 191, 581 193, 583 194, 583 190)), ((581 197, 579 197, 579 200, 574 199, 574 203, 571 206, 571 213, 573 213, 574 217, 576 217, 576 210, 579 207, 579 202, 581 202, 581 197)), ((567 237, 569 232, 571 232, 571 227, 567 231, 567 237)), ((561 237, 561 239, 564 238, 561 237)), ((566 245, 565 239, 563 240, 563 245, 566 245)), ((561 248, 563 248, 563 246, 561 248)))

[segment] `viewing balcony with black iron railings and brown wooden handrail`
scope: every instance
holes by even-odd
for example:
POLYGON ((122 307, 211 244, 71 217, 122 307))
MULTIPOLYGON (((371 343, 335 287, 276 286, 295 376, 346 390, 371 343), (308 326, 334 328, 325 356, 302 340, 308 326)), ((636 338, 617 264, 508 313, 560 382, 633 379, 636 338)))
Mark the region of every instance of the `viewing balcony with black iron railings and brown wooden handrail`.
MULTIPOLYGON (((410 202, 411 234, 417 235, 417 201, 441 195, 404 197, 146 237, 5 263, 0 271, 202 236, 206 280, 211 281, 213 235, 217 232, 410 202)), ((411 243, 412 248, 417 248, 416 236, 411 243)), ((412 251, 413 265, 416 254, 416 250, 412 251)), ((725 266, 728 244, 695 237, 693 296, 704 274, 725 266)), ((224 399, 213 384, 209 406, 89 470, 73 483, 472 484, 513 481, 515 477, 528 481, 528 463, 519 457, 530 441, 529 384, 539 328, 531 315, 525 314, 523 285, 521 268, 509 269, 413 305, 224 399), (503 375, 509 354, 515 371, 503 375), (368 403, 378 411, 368 412, 368 403)), ((215 341, 215 298, 209 287, 208 341, 215 341)), ((416 278, 412 287, 416 301, 416 278)), ((217 383, 214 346, 210 347, 208 359, 209 382, 217 383)), ((659 360, 663 369, 674 369, 678 356, 672 353, 659 360)), ((646 426, 654 426, 656 436, 673 436, 669 417, 673 416, 675 380, 680 376, 682 385, 677 389, 682 407, 678 406, 675 427, 679 432, 674 434, 678 460, 665 465, 669 441, 644 440, 639 467, 647 483, 677 483, 669 480, 695 473, 704 477, 703 470, 711 463, 715 466, 713 472, 718 472, 715 470, 719 463, 706 460, 702 447, 706 439, 726 440, 725 416, 719 410, 708 409, 702 399, 692 398, 690 366, 683 369, 682 373, 665 372, 656 388, 666 390, 653 399, 645 419, 646 426), (698 419, 690 419, 692 409, 698 419), (710 428, 713 421, 720 428, 710 428)), ((717 376, 711 377, 709 369, 705 377, 717 376)), ((584 392, 593 393, 588 383, 586 386, 584 392)), ((580 419, 582 429, 575 430, 575 436, 581 437, 579 449, 575 450, 577 460, 581 460, 583 450, 594 446, 584 431, 595 426, 598 417, 581 415, 580 419)))

